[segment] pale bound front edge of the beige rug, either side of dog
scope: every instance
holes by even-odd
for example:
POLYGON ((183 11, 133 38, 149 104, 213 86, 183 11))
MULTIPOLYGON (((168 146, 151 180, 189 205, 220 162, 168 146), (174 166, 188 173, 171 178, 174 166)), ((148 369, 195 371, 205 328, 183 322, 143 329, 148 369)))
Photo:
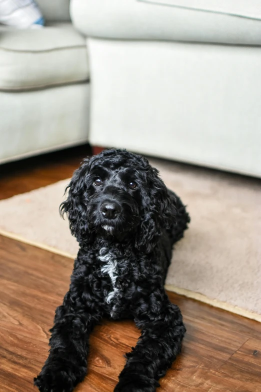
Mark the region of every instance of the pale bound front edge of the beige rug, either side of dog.
MULTIPOLYGON (((11 233, 11 232, 8 232, 8 231, 2 230, 2 229, 0 229, 0 235, 14 239, 19 242, 23 242, 23 243, 31 245, 31 246, 36 246, 37 248, 40 248, 40 249, 46 250, 48 252, 55 253, 60 256, 70 258, 70 259, 75 259, 75 257, 76 257, 76 255, 73 255, 71 253, 64 252, 62 250, 59 250, 57 248, 53 248, 48 245, 44 245, 40 242, 27 240, 26 238, 23 238, 22 236, 19 236, 18 234, 11 233)), ((198 293, 196 291, 187 290, 185 288, 177 287, 172 284, 165 284, 165 289, 168 291, 173 291, 176 294, 184 295, 187 298, 195 299, 196 301, 206 303, 206 304, 211 305, 213 307, 226 310, 230 313, 234 313, 239 316, 246 317, 251 320, 261 322, 261 314, 251 312, 250 310, 246 310, 246 309, 241 308, 239 306, 231 305, 227 302, 222 302, 217 299, 209 298, 206 295, 198 293)))

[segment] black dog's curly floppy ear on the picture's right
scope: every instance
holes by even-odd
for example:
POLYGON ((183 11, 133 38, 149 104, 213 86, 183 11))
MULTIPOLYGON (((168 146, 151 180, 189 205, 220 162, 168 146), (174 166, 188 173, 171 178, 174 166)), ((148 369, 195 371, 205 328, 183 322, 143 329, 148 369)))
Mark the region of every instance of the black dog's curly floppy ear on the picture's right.
POLYGON ((142 195, 141 222, 136 237, 136 247, 149 253, 157 243, 161 229, 168 229, 175 216, 173 200, 158 170, 151 168, 147 175, 147 189, 142 195))

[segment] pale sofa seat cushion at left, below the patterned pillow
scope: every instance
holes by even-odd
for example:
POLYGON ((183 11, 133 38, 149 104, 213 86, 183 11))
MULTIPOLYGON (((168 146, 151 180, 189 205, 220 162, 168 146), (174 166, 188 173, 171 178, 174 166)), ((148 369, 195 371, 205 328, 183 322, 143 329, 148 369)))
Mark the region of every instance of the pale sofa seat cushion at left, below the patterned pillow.
POLYGON ((0 28, 0 89, 26 90, 86 81, 85 40, 70 23, 39 30, 0 28))

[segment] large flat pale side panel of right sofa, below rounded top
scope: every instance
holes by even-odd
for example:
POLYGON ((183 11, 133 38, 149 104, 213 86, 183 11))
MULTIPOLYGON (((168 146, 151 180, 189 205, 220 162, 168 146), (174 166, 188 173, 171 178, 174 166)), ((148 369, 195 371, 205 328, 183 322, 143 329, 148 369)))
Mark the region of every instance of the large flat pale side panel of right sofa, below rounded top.
POLYGON ((88 50, 92 145, 261 177, 259 47, 89 39, 88 50))

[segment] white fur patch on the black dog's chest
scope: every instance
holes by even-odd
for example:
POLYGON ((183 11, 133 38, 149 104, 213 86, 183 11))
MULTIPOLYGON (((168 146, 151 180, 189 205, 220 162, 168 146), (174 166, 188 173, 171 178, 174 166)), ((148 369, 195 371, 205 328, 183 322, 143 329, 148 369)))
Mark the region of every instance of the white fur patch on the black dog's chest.
POLYGON ((107 248, 101 248, 99 251, 99 260, 106 263, 100 270, 103 274, 107 274, 110 277, 112 291, 110 291, 106 297, 106 302, 110 303, 111 299, 117 295, 118 288, 116 288, 117 279, 117 262, 113 260, 109 250, 107 248))

